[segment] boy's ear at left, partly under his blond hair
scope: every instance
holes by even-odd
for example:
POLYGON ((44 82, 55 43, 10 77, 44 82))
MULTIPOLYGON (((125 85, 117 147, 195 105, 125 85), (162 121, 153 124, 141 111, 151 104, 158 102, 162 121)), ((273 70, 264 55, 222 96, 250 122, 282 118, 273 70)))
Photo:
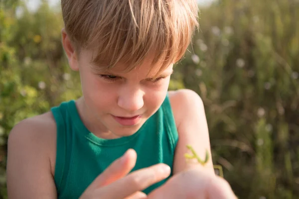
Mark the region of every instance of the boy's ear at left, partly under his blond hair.
POLYGON ((79 64, 78 64, 77 53, 76 53, 76 51, 71 43, 71 40, 70 40, 69 36, 67 35, 64 28, 61 30, 61 34, 62 34, 62 45, 63 45, 64 51, 66 53, 66 56, 68 58, 69 65, 72 70, 78 71, 79 64))

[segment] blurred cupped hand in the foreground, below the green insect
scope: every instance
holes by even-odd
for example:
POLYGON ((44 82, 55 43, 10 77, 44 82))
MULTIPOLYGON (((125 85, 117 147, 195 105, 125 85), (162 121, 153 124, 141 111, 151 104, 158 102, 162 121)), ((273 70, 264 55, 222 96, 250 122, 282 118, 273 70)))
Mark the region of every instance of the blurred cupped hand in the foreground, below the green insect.
POLYGON ((237 199, 223 178, 195 166, 170 178, 148 199, 237 199))

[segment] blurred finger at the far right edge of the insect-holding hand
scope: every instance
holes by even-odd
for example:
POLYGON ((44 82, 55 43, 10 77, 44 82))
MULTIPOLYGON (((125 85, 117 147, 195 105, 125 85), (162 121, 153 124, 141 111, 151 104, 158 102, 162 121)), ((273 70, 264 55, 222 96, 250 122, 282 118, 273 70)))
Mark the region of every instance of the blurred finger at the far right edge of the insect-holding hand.
POLYGON ((237 199, 231 186, 223 178, 214 178, 208 188, 209 199, 237 199))

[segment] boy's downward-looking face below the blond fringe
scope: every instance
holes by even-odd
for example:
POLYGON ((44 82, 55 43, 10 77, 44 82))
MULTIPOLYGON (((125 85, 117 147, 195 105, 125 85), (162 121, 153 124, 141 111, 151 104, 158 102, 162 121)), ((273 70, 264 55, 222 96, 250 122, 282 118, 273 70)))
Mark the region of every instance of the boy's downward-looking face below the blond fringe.
POLYGON ((173 65, 153 82, 148 76, 150 62, 129 73, 121 73, 126 66, 118 64, 107 73, 97 74, 92 70, 91 58, 91 52, 81 51, 78 61, 89 115, 100 124, 101 132, 112 132, 117 137, 134 134, 165 99, 173 65))

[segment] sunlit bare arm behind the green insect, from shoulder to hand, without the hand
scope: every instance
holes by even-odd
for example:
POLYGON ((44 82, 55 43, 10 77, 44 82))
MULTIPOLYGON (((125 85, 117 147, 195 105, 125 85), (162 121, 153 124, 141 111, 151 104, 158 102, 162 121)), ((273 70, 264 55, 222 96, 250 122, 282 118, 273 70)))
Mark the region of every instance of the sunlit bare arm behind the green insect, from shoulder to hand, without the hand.
POLYGON ((206 150, 208 151, 209 161, 205 168, 214 174, 209 132, 202 100, 193 91, 180 90, 172 93, 170 102, 179 137, 174 156, 173 173, 177 174, 198 165, 196 160, 185 160, 184 154, 190 153, 186 145, 191 145, 201 159, 205 159, 206 150))

